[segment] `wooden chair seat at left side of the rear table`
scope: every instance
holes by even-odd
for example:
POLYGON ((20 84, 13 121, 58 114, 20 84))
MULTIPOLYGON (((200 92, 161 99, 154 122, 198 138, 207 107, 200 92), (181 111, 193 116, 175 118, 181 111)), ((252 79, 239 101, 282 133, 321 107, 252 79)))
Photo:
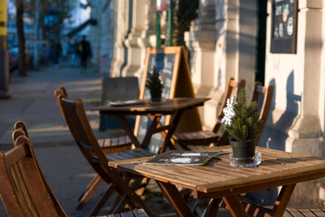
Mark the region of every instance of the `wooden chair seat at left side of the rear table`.
POLYGON ((104 153, 114 153, 131 148, 132 142, 128 136, 101 138, 97 140, 104 153))

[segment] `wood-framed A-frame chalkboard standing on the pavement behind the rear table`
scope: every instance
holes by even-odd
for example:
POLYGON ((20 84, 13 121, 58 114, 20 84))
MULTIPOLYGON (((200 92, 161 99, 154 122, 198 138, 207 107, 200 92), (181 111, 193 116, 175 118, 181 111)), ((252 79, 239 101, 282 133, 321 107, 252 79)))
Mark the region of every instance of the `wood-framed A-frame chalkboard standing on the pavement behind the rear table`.
MULTIPOLYGON (((148 48, 145 63, 145 71, 142 75, 139 99, 150 99, 149 90, 146 88, 147 74, 152 73, 156 66, 159 72, 163 74, 164 90, 162 98, 173 99, 175 97, 195 97, 192 86, 192 80, 189 73, 189 66, 186 60, 184 47, 166 47, 166 48, 148 48)), ((169 116, 162 117, 160 123, 168 124, 169 116)), ((147 129, 151 119, 145 116, 137 117, 135 125, 135 135, 142 142, 146 136, 147 129)), ((184 112, 177 127, 177 131, 191 131, 201 129, 201 122, 197 109, 191 109, 184 112), (190 117, 191 124, 188 124, 190 117)), ((151 137, 148 150, 158 153, 164 134, 154 134, 151 137)))

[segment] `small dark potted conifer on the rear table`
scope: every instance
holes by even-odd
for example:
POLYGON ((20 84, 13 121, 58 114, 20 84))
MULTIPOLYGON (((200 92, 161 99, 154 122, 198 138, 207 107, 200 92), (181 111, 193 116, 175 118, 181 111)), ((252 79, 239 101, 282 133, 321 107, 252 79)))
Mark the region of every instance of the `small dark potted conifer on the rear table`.
POLYGON ((163 80, 159 74, 156 67, 153 67, 152 73, 148 73, 146 80, 146 87, 150 90, 151 101, 159 102, 161 101, 161 94, 164 88, 163 80))

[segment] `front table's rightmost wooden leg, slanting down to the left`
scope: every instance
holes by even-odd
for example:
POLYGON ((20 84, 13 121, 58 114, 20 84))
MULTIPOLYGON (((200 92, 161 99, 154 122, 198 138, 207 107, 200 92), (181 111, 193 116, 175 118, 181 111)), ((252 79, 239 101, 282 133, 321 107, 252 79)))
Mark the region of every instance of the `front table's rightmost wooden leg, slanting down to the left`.
POLYGON ((281 217, 287 208, 287 205, 292 197, 292 193, 296 184, 284 185, 282 186, 281 192, 274 203, 271 216, 281 217))

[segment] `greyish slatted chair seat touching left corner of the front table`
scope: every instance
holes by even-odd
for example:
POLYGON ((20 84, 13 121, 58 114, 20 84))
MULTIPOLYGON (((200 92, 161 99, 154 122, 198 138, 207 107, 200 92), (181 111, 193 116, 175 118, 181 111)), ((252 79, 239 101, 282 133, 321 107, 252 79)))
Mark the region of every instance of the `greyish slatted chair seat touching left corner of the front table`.
POLYGON ((110 161, 125 160, 125 159, 132 159, 132 158, 146 157, 146 156, 154 156, 154 154, 142 148, 135 148, 123 152, 106 154, 106 157, 110 161))

